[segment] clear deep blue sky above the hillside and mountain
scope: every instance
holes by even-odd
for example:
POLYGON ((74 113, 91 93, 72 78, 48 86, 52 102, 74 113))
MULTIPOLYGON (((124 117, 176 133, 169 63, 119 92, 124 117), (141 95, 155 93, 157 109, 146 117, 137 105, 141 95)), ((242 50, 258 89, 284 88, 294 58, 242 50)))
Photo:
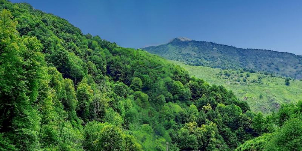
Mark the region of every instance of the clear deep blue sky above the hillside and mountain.
POLYGON ((11 0, 65 18, 123 47, 175 37, 302 55, 302 1, 11 0))

